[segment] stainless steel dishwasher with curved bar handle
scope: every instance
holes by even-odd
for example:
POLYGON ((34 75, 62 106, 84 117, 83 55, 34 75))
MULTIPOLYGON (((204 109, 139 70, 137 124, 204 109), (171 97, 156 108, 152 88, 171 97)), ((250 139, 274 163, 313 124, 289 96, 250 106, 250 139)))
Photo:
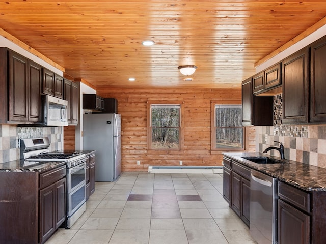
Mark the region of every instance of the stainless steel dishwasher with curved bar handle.
POLYGON ((259 244, 277 243, 278 181, 251 170, 250 234, 259 244))

